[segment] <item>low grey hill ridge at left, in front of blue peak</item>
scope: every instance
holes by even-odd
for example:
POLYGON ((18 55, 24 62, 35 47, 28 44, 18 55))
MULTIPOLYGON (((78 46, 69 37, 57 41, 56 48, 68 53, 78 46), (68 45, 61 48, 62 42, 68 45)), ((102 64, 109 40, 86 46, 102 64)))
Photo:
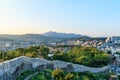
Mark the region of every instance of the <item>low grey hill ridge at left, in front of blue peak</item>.
POLYGON ((60 38, 51 38, 41 34, 24 34, 24 35, 0 35, 0 41, 32 41, 32 42, 56 42, 61 41, 60 38))

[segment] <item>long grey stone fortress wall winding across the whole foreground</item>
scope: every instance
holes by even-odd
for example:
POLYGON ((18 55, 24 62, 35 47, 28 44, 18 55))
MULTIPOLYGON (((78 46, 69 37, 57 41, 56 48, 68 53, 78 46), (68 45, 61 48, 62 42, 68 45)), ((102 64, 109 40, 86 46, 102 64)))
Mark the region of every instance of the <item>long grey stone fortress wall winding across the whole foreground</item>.
POLYGON ((83 65, 73 64, 60 60, 49 61, 40 58, 28 58, 18 57, 12 60, 8 60, 0 63, 0 80, 15 80, 16 76, 19 76, 24 70, 28 69, 55 69, 61 68, 67 72, 85 72, 101 73, 109 71, 109 66, 102 68, 90 68, 83 65))

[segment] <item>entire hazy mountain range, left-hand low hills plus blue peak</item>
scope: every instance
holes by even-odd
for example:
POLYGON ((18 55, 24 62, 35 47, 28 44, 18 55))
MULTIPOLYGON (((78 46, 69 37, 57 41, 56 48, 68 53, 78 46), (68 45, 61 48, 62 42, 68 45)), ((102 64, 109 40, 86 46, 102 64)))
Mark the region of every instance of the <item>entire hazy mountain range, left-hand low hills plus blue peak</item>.
POLYGON ((24 34, 24 35, 7 35, 0 34, 0 41, 31 41, 31 42, 61 42, 69 39, 88 39, 87 36, 80 34, 67 34, 58 32, 46 32, 44 34, 24 34))

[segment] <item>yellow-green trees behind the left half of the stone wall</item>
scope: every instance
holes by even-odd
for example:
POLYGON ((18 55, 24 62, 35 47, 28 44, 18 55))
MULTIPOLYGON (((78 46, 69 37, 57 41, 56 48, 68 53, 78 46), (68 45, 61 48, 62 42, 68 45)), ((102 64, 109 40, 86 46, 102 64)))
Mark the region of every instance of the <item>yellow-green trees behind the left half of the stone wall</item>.
POLYGON ((30 46, 28 48, 18 48, 7 52, 0 52, 0 62, 4 60, 13 59, 19 56, 27 57, 43 57, 47 58, 49 54, 49 48, 44 46, 30 46))

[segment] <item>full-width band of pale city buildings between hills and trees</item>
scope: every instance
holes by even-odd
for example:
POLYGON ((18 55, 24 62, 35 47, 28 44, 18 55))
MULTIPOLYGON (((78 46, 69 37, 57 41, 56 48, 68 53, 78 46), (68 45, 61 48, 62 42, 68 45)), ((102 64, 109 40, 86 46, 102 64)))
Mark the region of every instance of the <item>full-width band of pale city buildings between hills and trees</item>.
MULTIPOLYGON (((106 39, 88 39, 88 40, 79 40, 79 39, 70 39, 62 42, 51 42, 51 43, 41 43, 36 41, 0 41, 0 51, 7 51, 13 50, 17 48, 25 48, 29 46, 40 46, 45 45, 47 47, 54 47, 54 46, 85 46, 85 47, 96 47, 100 50, 105 52, 111 51, 112 53, 120 52, 120 36, 112 36, 106 39)), ((51 53, 57 51, 64 51, 68 50, 66 48, 51 48, 51 53)))

